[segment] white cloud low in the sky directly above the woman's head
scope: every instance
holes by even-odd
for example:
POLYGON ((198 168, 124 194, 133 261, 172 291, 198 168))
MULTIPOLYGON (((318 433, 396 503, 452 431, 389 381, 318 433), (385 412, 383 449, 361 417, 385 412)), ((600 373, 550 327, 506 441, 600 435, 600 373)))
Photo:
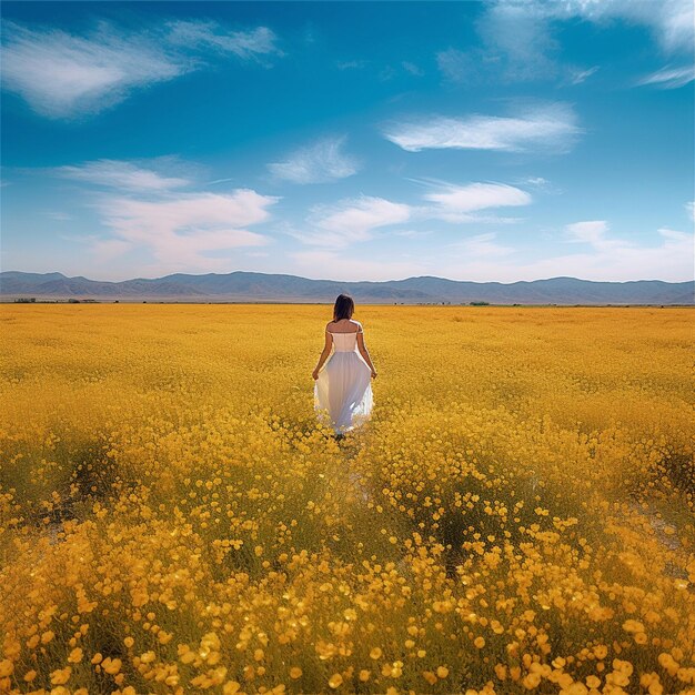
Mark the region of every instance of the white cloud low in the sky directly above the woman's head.
POLYGON ((309 232, 290 232, 303 243, 342 249, 354 242, 372 239, 381 226, 405 222, 411 208, 383 198, 361 195, 345 199, 334 205, 315 205, 311 210, 309 232))

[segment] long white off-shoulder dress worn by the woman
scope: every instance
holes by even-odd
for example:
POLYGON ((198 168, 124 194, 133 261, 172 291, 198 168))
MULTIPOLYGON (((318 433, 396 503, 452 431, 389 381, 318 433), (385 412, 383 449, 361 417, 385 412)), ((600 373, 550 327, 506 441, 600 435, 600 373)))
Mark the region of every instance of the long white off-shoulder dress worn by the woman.
POLYGON ((350 432, 369 420, 372 412, 372 370, 357 351, 357 331, 334 333, 333 354, 314 382, 314 410, 320 421, 335 433, 350 432))

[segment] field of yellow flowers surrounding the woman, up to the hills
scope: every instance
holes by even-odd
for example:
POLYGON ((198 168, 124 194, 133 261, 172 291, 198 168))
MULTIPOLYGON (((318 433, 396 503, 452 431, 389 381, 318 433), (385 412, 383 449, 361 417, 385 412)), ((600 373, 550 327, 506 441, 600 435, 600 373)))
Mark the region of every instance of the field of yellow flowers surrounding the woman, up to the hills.
POLYGON ((695 693, 692 311, 0 308, 0 692, 695 693))

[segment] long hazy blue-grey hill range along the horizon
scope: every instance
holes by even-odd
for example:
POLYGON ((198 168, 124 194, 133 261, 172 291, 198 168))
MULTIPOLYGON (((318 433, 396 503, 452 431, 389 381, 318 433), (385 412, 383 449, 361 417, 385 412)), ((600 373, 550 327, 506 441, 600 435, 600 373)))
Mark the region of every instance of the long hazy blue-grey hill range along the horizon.
POLYGON ((432 275, 384 282, 310 280, 236 271, 226 274, 177 273, 151 280, 101 282, 62 273, 0 273, 0 299, 154 300, 235 302, 333 302, 341 292, 371 304, 695 304, 695 282, 635 280, 593 282, 550 278, 531 282, 467 282, 432 275))

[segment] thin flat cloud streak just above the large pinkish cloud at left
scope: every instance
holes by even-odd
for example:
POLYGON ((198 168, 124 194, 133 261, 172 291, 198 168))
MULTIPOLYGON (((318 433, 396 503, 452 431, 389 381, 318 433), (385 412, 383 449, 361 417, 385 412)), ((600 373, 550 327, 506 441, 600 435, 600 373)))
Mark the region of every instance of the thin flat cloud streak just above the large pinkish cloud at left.
MULTIPOLYGON (((169 158, 160 159, 168 160, 169 158)), ((189 179, 161 174, 152 168, 109 159, 84 162, 80 165, 58 167, 53 171, 68 179, 132 191, 168 191, 191 183, 189 179)))

